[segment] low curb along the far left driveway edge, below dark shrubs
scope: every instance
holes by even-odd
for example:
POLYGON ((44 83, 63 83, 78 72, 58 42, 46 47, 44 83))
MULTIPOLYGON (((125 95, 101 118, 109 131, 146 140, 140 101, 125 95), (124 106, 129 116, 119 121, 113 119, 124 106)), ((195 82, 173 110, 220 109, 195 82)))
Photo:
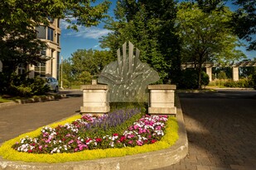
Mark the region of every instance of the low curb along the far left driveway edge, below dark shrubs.
POLYGON ((60 99, 60 98, 64 98, 64 97, 66 97, 65 94, 57 94, 57 95, 49 95, 49 96, 45 96, 45 97, 29 98, 26 100, 17 99, 15 102, 0 103, 0 108, 7 107, 7 106, 20 105, 20 104, 25 104, 25 103, 31 103, 31 102, 51 101, 51 100, 56 100, 56 99, 60 99))

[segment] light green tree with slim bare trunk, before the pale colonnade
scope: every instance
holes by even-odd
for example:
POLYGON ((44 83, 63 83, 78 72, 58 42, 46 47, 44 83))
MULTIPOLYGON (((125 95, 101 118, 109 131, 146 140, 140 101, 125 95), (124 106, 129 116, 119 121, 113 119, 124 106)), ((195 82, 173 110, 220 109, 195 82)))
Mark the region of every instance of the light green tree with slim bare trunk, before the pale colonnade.
POLYGON ((229 62, 244 56, 235 49, 241 45, 238 37, 227 27, 231 16, 232 12, 227 8, 205 13, 196 4, 181 3, 177 12, 178 34, 182 41, 181 57, 183 61, 196 64, 199 88, 203 63, 229 62))

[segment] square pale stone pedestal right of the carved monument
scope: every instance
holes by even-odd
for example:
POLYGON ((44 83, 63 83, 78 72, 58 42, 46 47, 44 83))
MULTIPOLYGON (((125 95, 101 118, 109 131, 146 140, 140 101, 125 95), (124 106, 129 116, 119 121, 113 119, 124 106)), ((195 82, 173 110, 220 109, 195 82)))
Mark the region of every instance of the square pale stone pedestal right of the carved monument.
POLYGON ((148 114, 176 115, 174 91, 176 85, 149 85, 148 114))

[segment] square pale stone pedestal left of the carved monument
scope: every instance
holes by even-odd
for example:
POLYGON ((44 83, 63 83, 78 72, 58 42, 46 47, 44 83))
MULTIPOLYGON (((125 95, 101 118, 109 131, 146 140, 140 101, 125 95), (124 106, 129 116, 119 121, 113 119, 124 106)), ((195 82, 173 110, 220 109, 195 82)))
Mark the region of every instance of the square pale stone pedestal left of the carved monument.
POLYGON ((81 113, 104 114, 110 111, 107 85, 83 85, 80 88, 83 91, 81 113))

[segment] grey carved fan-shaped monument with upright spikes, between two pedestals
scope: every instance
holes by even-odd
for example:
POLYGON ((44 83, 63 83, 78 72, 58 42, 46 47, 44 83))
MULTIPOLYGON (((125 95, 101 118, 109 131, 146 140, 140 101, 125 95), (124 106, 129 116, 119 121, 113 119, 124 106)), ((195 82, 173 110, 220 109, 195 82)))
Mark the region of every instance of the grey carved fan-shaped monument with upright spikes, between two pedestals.
POLYGON ((100 73, 98 82, 108 84, 109 102, 147 101, 147 85, 159 80, 158 73, 138 59, 140 51, 128 42, 123 50, 118 49, 118 60, 106 65, 100 73))

